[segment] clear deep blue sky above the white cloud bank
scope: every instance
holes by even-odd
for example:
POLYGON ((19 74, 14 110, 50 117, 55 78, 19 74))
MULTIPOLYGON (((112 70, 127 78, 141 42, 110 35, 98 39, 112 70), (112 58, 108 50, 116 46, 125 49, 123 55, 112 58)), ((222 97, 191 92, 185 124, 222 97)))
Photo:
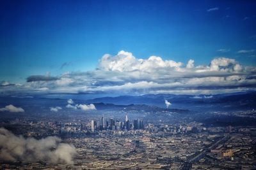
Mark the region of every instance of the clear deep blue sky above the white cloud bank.
POLYGON ((255 66, 255 9, 255 1, 1 1, 0 81, 93 71, 121 50, 255 66))

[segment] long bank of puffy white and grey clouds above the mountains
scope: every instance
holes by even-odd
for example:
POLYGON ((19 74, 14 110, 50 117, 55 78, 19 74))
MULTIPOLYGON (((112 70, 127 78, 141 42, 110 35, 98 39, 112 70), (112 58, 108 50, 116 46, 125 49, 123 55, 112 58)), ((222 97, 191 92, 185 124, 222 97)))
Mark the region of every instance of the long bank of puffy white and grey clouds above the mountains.
MULTIPOLYGON (((220 94, 255 90, 256 67, 242 66, 235 59, 215 57, 208 65, 140 59, 131 52, 105 54, 93 71, 63 73, 57 77, 29 76, 23 85, 0 87, 2 94, 220 94)), ((72 105, 67 108, 82 109, 72 105)), ((89 106, 90 108, 90 106, 89 106)), ((91 107, 92 108, 92 107, 91 107)))

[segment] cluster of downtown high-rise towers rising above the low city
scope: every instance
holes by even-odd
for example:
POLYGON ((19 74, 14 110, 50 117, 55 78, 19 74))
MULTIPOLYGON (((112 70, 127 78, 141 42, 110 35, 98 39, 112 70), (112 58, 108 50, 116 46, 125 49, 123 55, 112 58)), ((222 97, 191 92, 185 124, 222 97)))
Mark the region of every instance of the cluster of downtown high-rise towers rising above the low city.
POLYGON ((113 118, 109 118, 106 120, 104 116, 100 118, 99 122, 95 120, 91 120, 90 122, 90 130, 94 131, 103 131, 103 130, 112 130, 112 131, 130 131, 130 130, 138 130, 144 129, 143 120, 135 119, 133 122, 130 122, 127 115, 125 116, 124 122, 119 120, 114 120, 113 118))

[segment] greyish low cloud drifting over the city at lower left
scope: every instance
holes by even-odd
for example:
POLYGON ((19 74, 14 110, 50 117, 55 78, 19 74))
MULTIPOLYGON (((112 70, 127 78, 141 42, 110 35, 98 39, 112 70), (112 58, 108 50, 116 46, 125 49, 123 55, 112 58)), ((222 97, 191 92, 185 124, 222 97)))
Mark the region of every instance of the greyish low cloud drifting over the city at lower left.
POLYGON ((12 132, 0 128, 0 160, 8 162, 48 162, 57 164, 63 160, 73 164, 76 155, 74 145, 61 143, 56 136, 43 139, 15 136, 12 132))

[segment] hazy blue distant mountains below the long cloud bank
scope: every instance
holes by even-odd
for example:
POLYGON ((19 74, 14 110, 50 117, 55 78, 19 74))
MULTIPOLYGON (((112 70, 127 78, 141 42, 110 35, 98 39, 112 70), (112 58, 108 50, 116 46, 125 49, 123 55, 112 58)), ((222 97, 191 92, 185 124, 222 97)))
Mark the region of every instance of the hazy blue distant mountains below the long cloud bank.
POLYGON ((256 106, 256 92, 236 92, 232 94, 216 95, 175 95, 175 94, 146 94, 143 96, 118 96, 99 97, 86 100, 86 103, 111 103, 120 105, 147 104, 150 106, 165 107, 164 100, 168 100, 172 105, 170 108, 188 108, 188 106, 230 106, 249 107, 256 106))

